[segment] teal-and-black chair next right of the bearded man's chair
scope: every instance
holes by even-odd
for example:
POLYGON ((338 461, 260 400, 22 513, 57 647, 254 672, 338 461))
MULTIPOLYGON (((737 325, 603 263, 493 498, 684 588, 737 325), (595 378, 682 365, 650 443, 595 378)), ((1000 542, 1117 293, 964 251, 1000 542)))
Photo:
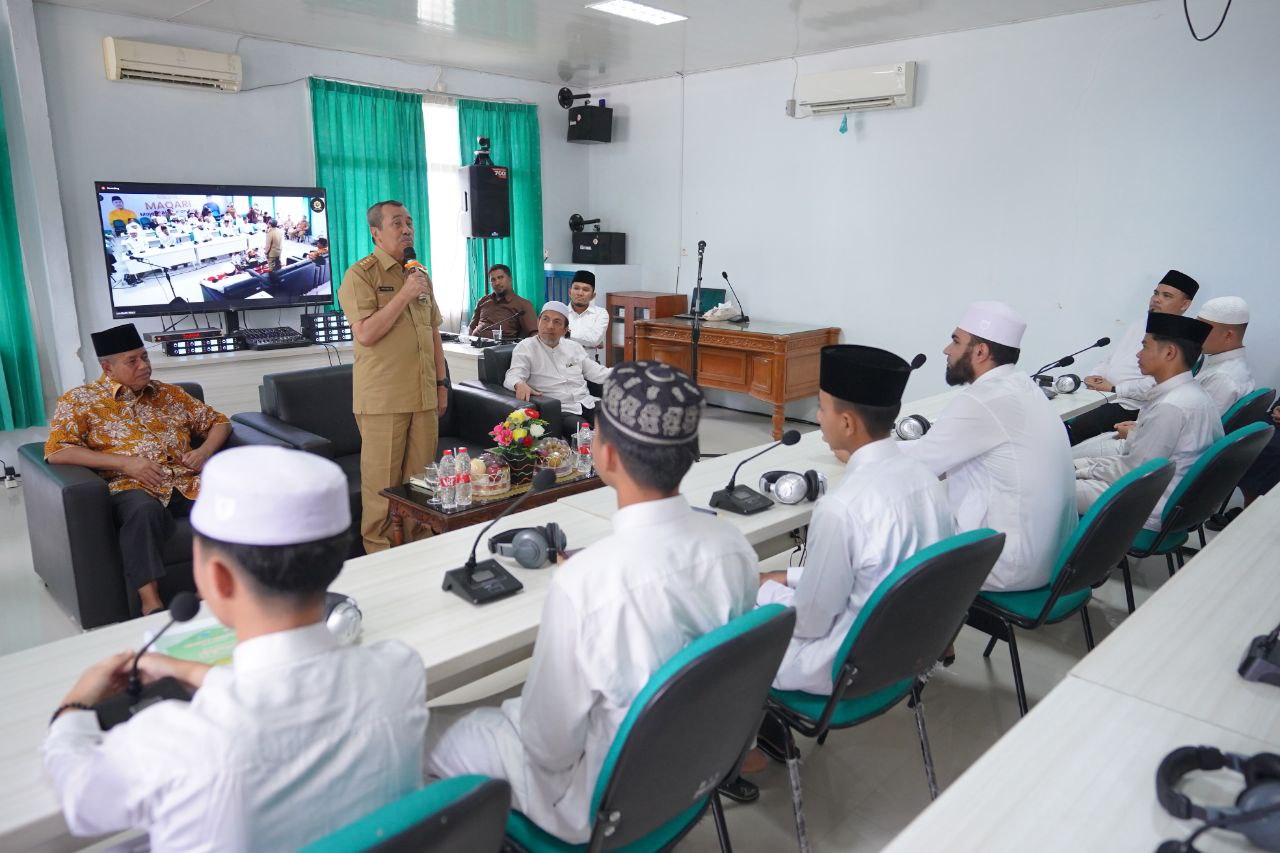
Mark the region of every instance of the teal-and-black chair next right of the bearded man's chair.
POLYGON ((1249 424, 1213 442, 1196 464, 1187 469, 1187 474, 1165 502, 1165 508, 1160 514, 1160 529, 1139 530, 1129 546, 1128 555, 1120 561, 1125 601, 1130 613, 1134 611, 1134 599, 1129 557, 1140 560, 1164 555, 1169 565, 1169 576, 1172 578, 1183 566, 1183 546, 1190 532, 1203 525, 1222 502, 1231 497, 1240 478, 1271 441, 1272 434, 1275 426, 1249 424))

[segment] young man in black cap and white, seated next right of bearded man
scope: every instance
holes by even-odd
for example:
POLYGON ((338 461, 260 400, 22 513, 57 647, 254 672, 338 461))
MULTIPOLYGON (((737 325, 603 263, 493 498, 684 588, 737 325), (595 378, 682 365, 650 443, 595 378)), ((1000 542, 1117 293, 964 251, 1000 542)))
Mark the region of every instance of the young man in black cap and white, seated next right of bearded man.
POLYGON ((1217 406, 1192 377, 1212 327, 1176 314, 1148 314, 1138 352, 1144 375, 1156 380, 1146 407, 1125 439, 1124 452, 1075 460, 1076 510, 1083 515, 1116 480, 1156 457, 1174 464, 1174 479, 1144 525, 1160 529, 1165 502, 1187 470, 1222 437, 1217 406))

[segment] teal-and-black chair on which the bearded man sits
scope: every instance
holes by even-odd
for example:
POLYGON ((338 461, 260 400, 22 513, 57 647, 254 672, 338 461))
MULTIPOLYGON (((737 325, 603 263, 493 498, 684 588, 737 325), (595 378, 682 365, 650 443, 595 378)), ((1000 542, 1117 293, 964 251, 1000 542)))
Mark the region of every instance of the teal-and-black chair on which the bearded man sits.
POLYGON ((1088 610, 1092 590, 1106 581, 1124 558, 1129 543, 1147 523, 1171 479, 1174 464, 1167 459, 1153 459, 1129 471, 1103 492, 1080 519, 1075 533, 1062 546, 1048 584, 1019 592, 983 592, 974 599, 969 608, 969 625, 991 635, 982 656, 991 656, 996 640, 1009 643, 1018 710, 1023 715, 1027 713, 1027 689, 1014 626, 1036 630, 1079 612, 1084 644, 1092 651, 1093 628, 1088 610))

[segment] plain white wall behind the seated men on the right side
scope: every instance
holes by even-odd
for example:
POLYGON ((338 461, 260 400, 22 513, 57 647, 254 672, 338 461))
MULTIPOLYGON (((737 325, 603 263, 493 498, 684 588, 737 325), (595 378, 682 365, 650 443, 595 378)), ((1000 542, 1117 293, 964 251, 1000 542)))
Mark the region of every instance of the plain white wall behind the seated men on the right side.
POLYGON ((593 87, 616 131, 590 150, 584 213, 627 232, 646 288, 673 288, 685 247, 687 292, 705 240, 704 283, 728 270, 753 318, 925 352, 909 398, 943 388, 968 301, 1027 316, 1034 369, 1140 316, 1170 266, 1199 279, 1197 305, 1249 301, 1251 362, 1274 386, 1280 4, 1236 4, 1207 44, 1176 5, 800 59, 920 63, 914 109, 850 115, 846 134, 785 115, 790 60, 690 76, 684 105, 678 79, 593 87))

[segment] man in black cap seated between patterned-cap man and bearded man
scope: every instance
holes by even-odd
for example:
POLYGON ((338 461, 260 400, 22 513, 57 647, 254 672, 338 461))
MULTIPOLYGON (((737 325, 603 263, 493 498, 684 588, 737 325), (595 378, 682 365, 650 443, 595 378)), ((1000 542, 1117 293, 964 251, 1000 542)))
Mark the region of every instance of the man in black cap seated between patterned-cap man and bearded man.
POLYGON ((867 599, 900 562, 951 535, 952 519, 946 485, 890 434, 911 365, 847 345, 820 357, 818 425, 849 461, 813 510, 804 565, 762 575, 756 601, 796 608, 773 686, 829 695, 836 654, 867 599))

